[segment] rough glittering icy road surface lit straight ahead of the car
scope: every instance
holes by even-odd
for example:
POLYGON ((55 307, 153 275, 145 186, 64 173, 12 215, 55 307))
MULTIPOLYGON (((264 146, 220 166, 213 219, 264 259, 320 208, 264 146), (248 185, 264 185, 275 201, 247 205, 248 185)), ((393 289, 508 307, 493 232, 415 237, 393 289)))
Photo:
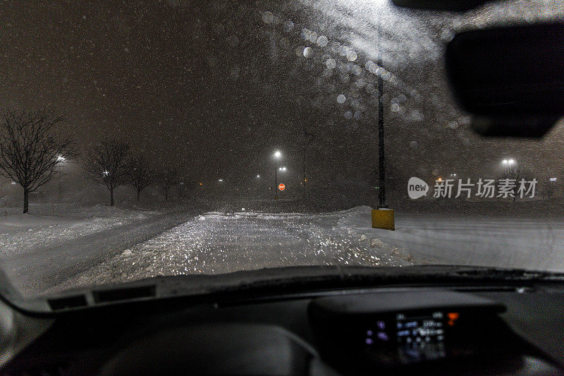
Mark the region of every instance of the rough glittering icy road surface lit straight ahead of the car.
POLYGON ((324 214, 209 212, 135 245, 59 289, 177 274, 297 265, 405 266, 415 260, 343 221, 369 211, 324 214))

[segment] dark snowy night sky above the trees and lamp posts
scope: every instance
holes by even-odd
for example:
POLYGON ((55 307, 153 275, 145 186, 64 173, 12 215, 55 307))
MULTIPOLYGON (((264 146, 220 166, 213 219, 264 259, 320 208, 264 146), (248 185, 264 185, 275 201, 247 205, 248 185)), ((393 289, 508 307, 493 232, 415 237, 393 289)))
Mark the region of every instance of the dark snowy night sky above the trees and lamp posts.
POLYGON ((274 150, 297 181, 305 130, 312 184, 354 185, 377 166, 381 74, 393 178, 492 176, 508 156, 562 176, 562 121, 541 142, 480 138, 444 78, 456 30, 563 16, 560 1, 523 3, 449 15, 375 0, 1 1, 0 106, 54 107, 81 147, 129 140, 198 181, 269 178, 274 150))

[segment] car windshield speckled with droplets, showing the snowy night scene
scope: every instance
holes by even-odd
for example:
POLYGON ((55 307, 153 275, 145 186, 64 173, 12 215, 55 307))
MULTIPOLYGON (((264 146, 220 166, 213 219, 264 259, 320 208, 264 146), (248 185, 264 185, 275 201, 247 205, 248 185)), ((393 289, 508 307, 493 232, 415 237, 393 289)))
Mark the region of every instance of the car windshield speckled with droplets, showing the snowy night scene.
POLYGON ((455 13, 388 0, 1 1, 0 265, 24 296, 319 265, 564 271, 564 128, 484 138, 455 13))

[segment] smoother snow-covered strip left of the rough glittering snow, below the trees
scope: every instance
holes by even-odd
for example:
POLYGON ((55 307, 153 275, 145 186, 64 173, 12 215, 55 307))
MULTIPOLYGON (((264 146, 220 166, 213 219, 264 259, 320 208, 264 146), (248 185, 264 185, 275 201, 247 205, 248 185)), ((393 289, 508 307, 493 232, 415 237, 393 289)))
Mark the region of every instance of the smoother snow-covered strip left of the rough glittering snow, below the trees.
POLYGON ((106 205, 75 207, 66 214, 0 219, 0 266, 24 294, 42 293, 193 217, 185 207, 130 210, 106 205))

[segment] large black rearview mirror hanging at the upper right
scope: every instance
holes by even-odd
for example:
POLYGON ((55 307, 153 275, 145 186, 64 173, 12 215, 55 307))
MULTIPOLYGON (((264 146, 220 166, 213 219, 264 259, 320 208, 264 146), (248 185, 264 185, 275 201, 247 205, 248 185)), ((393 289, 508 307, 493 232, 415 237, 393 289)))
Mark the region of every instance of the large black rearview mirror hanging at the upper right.
POLYGON ((564 24, 473 30, 446 49, 455 97, 484 135, 540 137, 564 114, 564 24))

